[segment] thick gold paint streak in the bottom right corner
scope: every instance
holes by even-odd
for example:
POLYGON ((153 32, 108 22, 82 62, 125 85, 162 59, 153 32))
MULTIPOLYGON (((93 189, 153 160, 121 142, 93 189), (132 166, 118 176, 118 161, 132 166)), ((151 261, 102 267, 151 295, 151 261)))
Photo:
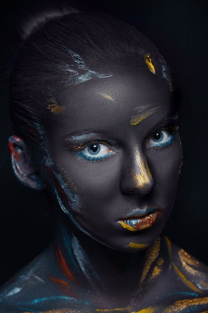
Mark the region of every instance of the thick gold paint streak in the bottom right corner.
POLYGON ((178 300, 171 306, 167 307, 162 313, 174 313, 174 312, 179 313, 192 305, 200 304, 208 304, 208 297, 178 300))

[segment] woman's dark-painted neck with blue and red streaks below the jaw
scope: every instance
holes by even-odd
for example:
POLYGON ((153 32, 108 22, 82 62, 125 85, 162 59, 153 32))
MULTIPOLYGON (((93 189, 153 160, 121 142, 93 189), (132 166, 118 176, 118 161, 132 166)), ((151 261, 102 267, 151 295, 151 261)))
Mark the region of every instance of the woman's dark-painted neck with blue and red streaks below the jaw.
POLYGON ((102 293, 105 289, 108 292, 122 290, 123 293, 138 288, 148 250, 136 253, 115 251, 84 234, 64 213, 56 216, 56 220, 54 249, 65 277, 102 293))

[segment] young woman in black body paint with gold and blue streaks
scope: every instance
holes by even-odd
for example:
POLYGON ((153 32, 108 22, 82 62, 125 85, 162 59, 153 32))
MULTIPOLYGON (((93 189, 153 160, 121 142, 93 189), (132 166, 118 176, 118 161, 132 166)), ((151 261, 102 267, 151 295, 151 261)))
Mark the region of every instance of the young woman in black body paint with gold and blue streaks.
POLYGON ((51 245, 0 293, 2 312, 208 310, 208 268, 160 233, 182 164, 168 65, 104 14, 39 15, 10 77, 15 175, 53 198, 51 245))

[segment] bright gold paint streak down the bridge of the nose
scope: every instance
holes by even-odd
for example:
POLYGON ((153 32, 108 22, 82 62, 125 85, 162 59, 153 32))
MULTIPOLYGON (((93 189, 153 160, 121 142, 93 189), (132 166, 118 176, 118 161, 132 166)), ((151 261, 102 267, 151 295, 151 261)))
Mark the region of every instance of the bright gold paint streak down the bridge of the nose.
POLYGON ((136 185, 136 188, 143 188, 150 183, 150 180, 152 179, 152 174, 148 167, 146 158, 144 157, 144 160, 142 159, 138 147, 136 147, 136 153, 137 164, 139 165, 140 173, 134 174, 132 169, 132 178, 136 185))

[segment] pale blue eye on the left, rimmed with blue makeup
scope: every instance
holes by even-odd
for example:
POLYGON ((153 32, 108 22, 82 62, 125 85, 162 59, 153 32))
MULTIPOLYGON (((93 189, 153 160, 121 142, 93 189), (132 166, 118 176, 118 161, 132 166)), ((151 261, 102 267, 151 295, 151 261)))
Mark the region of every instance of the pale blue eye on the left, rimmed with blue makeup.
POLYGON ((90 161, 97 161, 108 157, 113 151, 103 143, 92 143, 79 150, 76 155, 90 161))

